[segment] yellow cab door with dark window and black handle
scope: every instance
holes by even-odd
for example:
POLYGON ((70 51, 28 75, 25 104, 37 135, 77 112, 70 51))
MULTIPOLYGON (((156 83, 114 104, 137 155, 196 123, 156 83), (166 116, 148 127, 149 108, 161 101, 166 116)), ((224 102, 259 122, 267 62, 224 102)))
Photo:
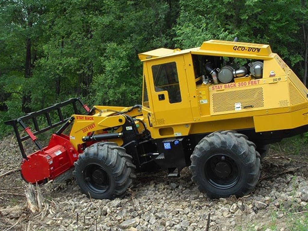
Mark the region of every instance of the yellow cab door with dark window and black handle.
POLYGON ((183 56, 148 62, 156 124, 183 124, 193 120, 183 56))

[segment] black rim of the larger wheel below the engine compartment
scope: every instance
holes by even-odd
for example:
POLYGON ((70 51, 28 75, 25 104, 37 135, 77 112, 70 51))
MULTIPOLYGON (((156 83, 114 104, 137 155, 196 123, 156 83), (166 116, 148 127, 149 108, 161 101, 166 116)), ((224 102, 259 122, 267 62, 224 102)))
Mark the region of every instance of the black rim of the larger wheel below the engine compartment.
POLYGON ((207 159, 204 172, 209 184, 218 189, 232 188, 241 178, 237 163, 226 154, 215 154, 207 159))

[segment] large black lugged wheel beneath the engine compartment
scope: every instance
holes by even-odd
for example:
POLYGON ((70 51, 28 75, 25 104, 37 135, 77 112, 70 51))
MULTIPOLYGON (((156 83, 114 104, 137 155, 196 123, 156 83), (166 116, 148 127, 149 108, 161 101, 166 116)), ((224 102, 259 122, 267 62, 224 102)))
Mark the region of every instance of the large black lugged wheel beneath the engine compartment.
POLYGON ((192 180, 210 198, 244 196, 260 177, 260 155, 247 136, 235 131, 213 132, 190 157, 192 180))

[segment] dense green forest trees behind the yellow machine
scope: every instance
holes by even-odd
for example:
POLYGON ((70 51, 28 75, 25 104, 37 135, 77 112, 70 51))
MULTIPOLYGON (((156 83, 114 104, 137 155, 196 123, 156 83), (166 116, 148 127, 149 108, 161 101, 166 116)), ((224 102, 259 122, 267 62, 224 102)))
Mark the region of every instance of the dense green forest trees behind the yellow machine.
POLYGON ((35 111, 76 96, 90 105, 140 103, 137 54, 158 47, 182 49, 237 36, 271 44, 303 76, 306 5, 305 0, 0 0, 0 136, 7 132, 2 122, 26 107, 35 111))

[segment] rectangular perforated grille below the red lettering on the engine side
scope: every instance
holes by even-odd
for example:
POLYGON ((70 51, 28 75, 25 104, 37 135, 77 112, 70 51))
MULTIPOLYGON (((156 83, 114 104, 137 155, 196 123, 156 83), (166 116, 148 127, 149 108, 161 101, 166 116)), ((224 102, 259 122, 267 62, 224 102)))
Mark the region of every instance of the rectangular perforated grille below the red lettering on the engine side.
POLYGON ((211 98, 213 113, 235 111, 235 103, 241 103, 241 109, 264 107, 262 87, 217 92, 211 98))

